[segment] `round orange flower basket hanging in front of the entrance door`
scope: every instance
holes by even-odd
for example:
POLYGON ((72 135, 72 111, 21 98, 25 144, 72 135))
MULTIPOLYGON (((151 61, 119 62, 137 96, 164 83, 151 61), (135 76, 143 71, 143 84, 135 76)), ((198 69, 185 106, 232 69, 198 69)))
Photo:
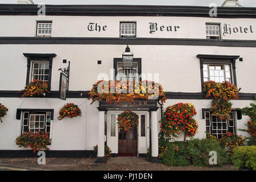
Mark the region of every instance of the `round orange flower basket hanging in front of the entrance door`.
POLYGON ((138 126, 139 117, 131 110, 123 111, 123 113, 117 118, 118 128, 120 130, 128 131, 133 129, 134 126, 138 126))

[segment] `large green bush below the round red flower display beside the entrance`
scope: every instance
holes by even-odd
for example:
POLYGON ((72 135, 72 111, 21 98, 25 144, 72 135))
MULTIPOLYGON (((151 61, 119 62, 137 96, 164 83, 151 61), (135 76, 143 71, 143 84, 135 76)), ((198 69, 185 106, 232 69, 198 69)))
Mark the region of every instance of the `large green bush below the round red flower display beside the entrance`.
POLYGON ((159 142, 162 163, 168 166, 210 166, 209 152, 217 152, 217 164, 222 166, 228 162, 225 147, 216 140, 192 139, 185 142, 159 142))

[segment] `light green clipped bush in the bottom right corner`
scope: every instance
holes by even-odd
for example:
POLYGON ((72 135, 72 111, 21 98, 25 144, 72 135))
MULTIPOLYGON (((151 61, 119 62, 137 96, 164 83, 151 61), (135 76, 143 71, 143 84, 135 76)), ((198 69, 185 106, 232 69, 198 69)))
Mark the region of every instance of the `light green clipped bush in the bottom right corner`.
POLYGON ((235 168, 256 170, 256 146, 234 147, 231 160, 235 168))

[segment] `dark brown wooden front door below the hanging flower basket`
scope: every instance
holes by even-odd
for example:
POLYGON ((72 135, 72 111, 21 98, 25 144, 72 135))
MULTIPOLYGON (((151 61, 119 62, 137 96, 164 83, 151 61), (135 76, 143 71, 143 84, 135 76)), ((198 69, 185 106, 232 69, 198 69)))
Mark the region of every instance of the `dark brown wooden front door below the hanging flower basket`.
POLYGON ((118 134, 118 155, 137 156, 138 151, 138 130, 137 127, 124 131, 119 130, 118 134))

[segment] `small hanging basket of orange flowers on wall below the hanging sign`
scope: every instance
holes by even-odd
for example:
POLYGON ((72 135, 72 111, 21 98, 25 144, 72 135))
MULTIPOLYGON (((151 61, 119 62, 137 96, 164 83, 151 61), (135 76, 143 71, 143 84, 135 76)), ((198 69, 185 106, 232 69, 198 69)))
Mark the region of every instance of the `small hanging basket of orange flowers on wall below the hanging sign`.
POLYGON ((74 118, 82 115, 81 109, 74 103, 67 103, 59 111, 58 120, 61 120, 65 117, 74 118))

